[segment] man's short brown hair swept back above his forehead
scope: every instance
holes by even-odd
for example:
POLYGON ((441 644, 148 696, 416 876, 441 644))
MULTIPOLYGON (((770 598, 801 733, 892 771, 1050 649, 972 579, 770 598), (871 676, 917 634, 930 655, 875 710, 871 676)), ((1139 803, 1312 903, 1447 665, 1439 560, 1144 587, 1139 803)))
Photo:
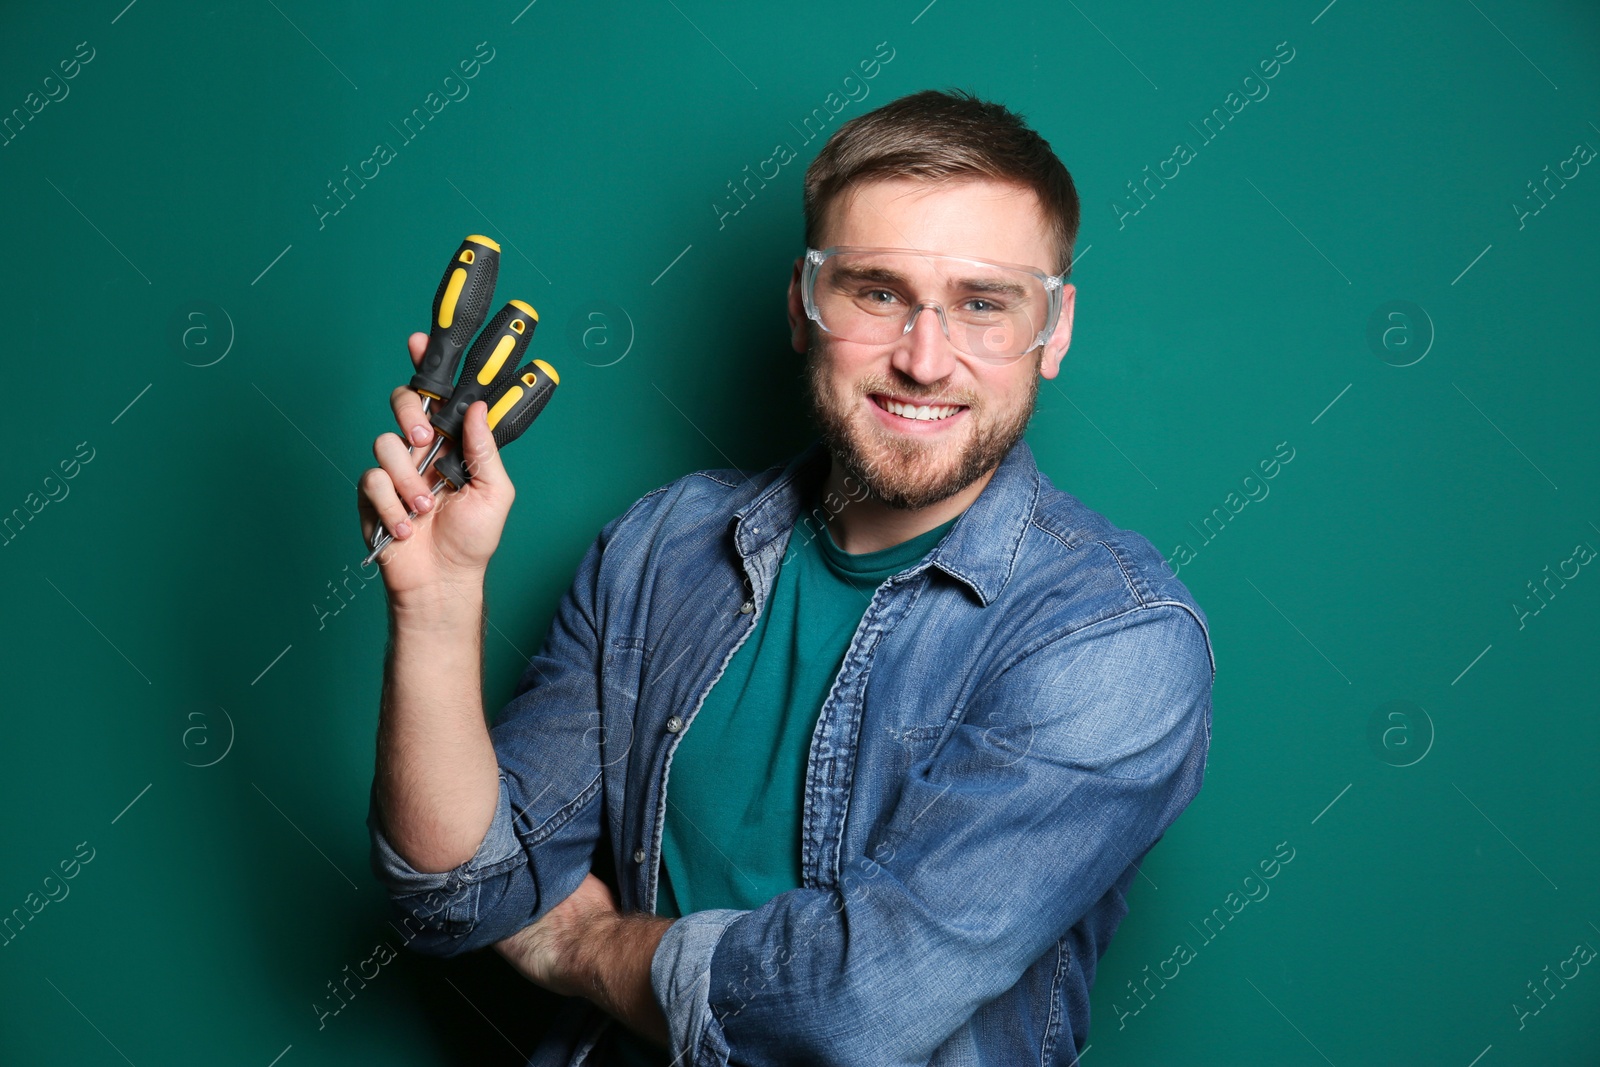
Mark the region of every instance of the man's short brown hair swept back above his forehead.
POLYGON ((1030 189, 1056 245, 1056 274, 1072 270, 1078 192, 1072 174, 1021 115, 971 93, 923 90, 858 115, 834 131, 805 173, 805 240, 854 182, 878 178, 1003 181, 1030 189))

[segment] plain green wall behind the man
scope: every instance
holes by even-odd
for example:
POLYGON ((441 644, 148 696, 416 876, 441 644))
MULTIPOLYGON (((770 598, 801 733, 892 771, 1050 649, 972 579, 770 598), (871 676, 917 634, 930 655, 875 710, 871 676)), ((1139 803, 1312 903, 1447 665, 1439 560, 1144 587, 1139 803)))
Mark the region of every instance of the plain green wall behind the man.
POLYGON ((93 849, 0 949, 0 1061, 522 1062, 550 1001, 493 953, 403 953, 314 1008, 398 942, 363 825, 382 589, 331 585, 405 336, 483 232, 562 371, 507 453, 493 713, 606 520, 808 440, 782 301, 821 141, 790 123, 880 42, 829 131, 962 86, 1072 171, 1077 331, 1029 442, 1168 557, 1189 541, 1211 624, 1206 784, 1134 883, 1085 1064, 1600 1059, 1594 966, 1528 990, 1600 947, 1600 574, 1515 608, 1600 545, 1595 165, 1518 221, 1600 146, 1592 5, 123 3, 0 16, 0 114, 93 48, 0 147, 0 514, 69 490, 0 547, 0 913, 93 849), (480 42, 469 94, 398 144, 480 42), (397 158, 318 227, 379 141, 397 158), (718 226, 779 141, 800 158, 718 226), (1200 937, 1285 841, 1270 896, 1200 937))

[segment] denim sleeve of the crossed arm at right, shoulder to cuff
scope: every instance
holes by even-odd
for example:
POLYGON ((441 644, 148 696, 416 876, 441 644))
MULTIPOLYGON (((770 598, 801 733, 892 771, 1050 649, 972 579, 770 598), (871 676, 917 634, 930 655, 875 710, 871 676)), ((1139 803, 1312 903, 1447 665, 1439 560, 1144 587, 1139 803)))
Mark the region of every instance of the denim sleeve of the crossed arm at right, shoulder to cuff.
POLYGON ((1214 664, 1181 605, 1048 640, 974 694, 838 883, 667 928, 682 1064, 926 1064, 1200 790, 1214 664))

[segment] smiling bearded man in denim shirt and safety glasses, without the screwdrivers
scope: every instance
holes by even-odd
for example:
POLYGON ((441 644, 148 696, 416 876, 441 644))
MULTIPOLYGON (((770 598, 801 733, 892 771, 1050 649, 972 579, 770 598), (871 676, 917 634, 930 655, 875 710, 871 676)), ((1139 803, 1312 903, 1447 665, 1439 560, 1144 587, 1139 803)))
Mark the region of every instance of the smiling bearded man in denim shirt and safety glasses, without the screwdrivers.
MULTIPOLYGON (((1006 109, 917 93, 834 134, 805 210, 822 440, 608 523, 493 729, 512 486, 483 406, 437 515, 402 526, 430 498, 392 434, 362 480, 363 533, 400 533, 373 867, 418 950, 493 944, 574 997, 538 1064, 1075 1062, 1202 784, 1205 614, 1022 442, 1072 334, 1066 168, 1006 109)), ((416 394, 394 408, 427 445, 416 394)))

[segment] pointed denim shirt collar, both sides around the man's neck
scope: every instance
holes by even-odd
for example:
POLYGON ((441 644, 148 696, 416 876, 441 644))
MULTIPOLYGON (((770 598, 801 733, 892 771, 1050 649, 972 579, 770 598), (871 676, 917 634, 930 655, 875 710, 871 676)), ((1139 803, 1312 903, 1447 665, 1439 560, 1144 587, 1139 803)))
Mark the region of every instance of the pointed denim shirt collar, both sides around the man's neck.
MULTIPOLYGON (((739 555, 749 558, 794 528, 808 491, 827 475, 830 462, 822 442, 813 442, 733 514, 730 522, 736 526, 739 555)), ((926 566, 938 566, 971 589, 984 606, 990 605, 1011 581, 1038 493, 1038 464, 1027 442, 1019 440, 928 557, 926 566)))

